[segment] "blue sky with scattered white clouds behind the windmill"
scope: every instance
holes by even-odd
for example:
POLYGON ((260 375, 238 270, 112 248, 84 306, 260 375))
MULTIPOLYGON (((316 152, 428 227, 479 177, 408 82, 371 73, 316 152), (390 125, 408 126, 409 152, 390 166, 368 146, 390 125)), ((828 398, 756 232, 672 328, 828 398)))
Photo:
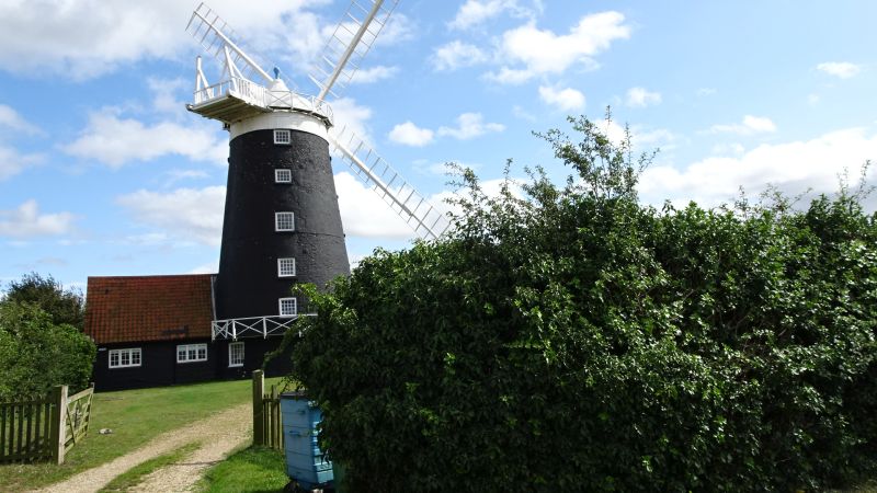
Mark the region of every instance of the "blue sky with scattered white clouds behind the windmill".
MULTIPOLYGON (((228 134, 185 110, 197 3, 0 0, 0 285, 216 272, 228 134)), ((348 2, 207 3, 289 87, 318 92, 307 73, 348 2)), ((607 106, 611 136, 627 125, 637 150, 660 149, 643 203, 832 193, 877 159, 875 18, 869 0, 401 0, 330 103, 440 203, 446 162, 487 190, 508 159, 513 176, 543 165, 560 183, 570 170, 533 133, 607 106)), ((333 171, 352 262, 411 244, 342 160, 333 171)))

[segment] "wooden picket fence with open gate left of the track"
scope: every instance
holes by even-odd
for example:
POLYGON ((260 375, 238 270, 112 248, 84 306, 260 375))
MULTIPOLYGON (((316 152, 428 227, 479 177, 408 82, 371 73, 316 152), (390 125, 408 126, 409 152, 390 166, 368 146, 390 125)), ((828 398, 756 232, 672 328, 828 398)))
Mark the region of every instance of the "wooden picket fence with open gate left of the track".
POLYGON ((71 397, 58 386, 41 399, 0 403, 0 462, 64 463, 89 431, 93 395, 94 383, 71 397))

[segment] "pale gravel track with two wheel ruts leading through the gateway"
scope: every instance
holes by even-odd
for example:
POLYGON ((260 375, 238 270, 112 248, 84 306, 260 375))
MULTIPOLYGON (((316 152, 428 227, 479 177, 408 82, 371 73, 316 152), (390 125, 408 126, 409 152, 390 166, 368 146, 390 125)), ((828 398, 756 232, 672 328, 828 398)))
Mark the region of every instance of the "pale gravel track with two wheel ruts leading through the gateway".
POLYGON ((202 443, 183 463, 160 469, 146 477, 134 491, 180 492, 190 489, 201 478, 204 469, 225 458, 241 446, 252 428, 252 405, 241 404, 219 414, 163 433, 139 449, 88 471, 80 472, 43 493, 93 493, 118 474, 151 458, 168 454, 193 442, 202 443))

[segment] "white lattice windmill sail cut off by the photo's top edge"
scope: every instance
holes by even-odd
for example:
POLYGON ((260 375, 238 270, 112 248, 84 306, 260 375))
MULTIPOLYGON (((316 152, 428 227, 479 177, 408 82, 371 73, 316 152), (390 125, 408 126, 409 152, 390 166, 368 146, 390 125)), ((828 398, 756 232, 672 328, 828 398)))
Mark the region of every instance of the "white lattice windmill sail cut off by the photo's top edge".
POLYGON ((399 0, 353 0, 311 68, 319 99, 340 98, 399 0))

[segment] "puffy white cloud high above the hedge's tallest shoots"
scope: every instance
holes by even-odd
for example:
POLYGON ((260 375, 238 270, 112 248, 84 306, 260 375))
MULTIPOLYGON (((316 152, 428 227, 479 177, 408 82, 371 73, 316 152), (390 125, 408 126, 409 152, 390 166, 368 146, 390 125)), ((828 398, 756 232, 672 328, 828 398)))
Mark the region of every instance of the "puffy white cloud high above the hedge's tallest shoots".
POLYGON ((608 11, 583 16, 565 35, 539 30, 533 22, 506 31, 499 56, 512 64, 488 73, 488 79, 521 83, 539 74, 562 73, 577 64, 592 67, 592 57, 608 49, 613 41, 630 37, 630 26, 624 21, 622 13, 608 11))

